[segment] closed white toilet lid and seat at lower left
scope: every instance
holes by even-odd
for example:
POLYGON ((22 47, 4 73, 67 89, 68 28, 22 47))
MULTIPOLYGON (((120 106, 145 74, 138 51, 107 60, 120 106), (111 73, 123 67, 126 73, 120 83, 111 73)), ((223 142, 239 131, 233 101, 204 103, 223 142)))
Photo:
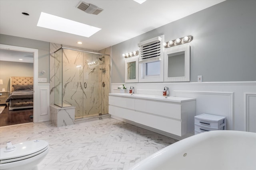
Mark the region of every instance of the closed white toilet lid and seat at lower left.
POLYGON ((48 142, 44 140, 25 141, 17 143, 15 149, 10 152, 5 152, 5 148, 0 149, 0 164, 23 160, 40 154, 48 149, 48 142))

